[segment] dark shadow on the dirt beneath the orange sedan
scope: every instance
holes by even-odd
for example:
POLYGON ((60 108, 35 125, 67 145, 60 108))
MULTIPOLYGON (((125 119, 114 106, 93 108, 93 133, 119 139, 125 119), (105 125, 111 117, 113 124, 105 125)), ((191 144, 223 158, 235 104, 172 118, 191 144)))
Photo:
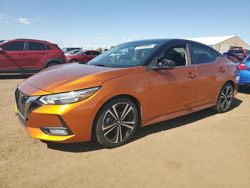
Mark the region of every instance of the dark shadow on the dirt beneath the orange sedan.
MULTIPOLYGON (((242 103, 242 100, 235 98, 232 103, 232 110, 234 108, 237 108, 242 103)), ((141 129, 138 129, 136 132, 134 138, 131 140, 131 142, 134 142, 138 139, 141 139, 145 136, 155 134, 161 131, 167 131, 170 129, 178 128, 181 126, 185 126, 189 123, 193 123, 196 121, 199 121, 201 119, 211 117, 213 115, 216 115, 217 113, 211 109, 205 109, 201 110, 199 112, 194 112, 192 114, 188 114, 185 116, 181 116, 172 120, 163 121, 160 123, 153 124, 151 126, 147 126, 141 129)), ((45 141, 43 141, 45 142, 45 141)), ((64 144, 64 143, 55 143, 55 142, 45 142, 47 144, 47 147, 49 149, 53 150, 59 150, 64 152, 88 152, 88 151, 94 151, 94 150, 100 150, 104 149, 103 146, 100 144, 91 141, 91 142, 85 142, 85 143, 70 143, 70 144, 64 144)))

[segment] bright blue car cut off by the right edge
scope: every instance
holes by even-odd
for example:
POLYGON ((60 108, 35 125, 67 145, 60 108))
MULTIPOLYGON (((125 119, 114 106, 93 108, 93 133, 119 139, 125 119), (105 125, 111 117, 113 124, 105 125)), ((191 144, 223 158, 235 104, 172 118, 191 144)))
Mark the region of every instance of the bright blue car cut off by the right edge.
POLYGON ((240 86, 250 86, 250 55, 240 63, 240 86))

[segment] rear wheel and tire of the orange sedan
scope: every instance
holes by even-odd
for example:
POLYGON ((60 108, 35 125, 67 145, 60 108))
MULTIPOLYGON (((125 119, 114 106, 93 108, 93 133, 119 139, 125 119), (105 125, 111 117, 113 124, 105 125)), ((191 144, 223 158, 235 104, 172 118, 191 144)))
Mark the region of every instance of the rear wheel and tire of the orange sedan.
POLYGON ((234 87, 231 83, 227 82, 220 90, 217 103, 214 110, 218 113, 224 113, 231 109, 232 101, 234 98, 234 87))

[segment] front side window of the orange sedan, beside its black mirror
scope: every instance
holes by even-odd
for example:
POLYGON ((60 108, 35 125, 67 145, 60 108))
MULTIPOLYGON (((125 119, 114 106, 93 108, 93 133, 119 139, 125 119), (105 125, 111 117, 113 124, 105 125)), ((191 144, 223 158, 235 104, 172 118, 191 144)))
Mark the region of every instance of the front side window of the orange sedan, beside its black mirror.
POLYGON ((176 66, 186 66, 188 62, 186 45, 178 45, 166 49, 161 58, 174 61, 176 66))

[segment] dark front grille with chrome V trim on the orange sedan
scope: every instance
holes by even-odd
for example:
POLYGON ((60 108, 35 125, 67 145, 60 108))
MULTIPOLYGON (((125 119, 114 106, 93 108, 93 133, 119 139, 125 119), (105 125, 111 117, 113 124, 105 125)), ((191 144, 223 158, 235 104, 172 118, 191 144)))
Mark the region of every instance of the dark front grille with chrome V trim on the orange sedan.
POLYGON ((19 89, 16 89, 15 91, 15 98, 16 98, 17 109, 25 120, 28 120, 28 116, 31 111, 41 106, 40 103, 36 102, 38 96, 25 95, 19 89))

